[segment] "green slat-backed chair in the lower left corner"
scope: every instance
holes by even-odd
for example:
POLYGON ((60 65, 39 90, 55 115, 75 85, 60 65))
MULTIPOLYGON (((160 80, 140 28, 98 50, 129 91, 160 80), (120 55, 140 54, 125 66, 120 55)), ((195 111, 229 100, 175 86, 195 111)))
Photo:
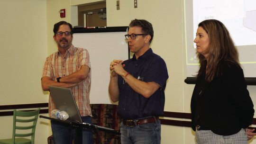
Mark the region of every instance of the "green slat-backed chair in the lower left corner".
POLYGON ((39 111, 40 108, 35 111, 17 111, 14 109, 12 138, 0 139, 0 144, 34 144, 39 111), (24 138, 27 136, 31 136, 31 139, 24 138))

